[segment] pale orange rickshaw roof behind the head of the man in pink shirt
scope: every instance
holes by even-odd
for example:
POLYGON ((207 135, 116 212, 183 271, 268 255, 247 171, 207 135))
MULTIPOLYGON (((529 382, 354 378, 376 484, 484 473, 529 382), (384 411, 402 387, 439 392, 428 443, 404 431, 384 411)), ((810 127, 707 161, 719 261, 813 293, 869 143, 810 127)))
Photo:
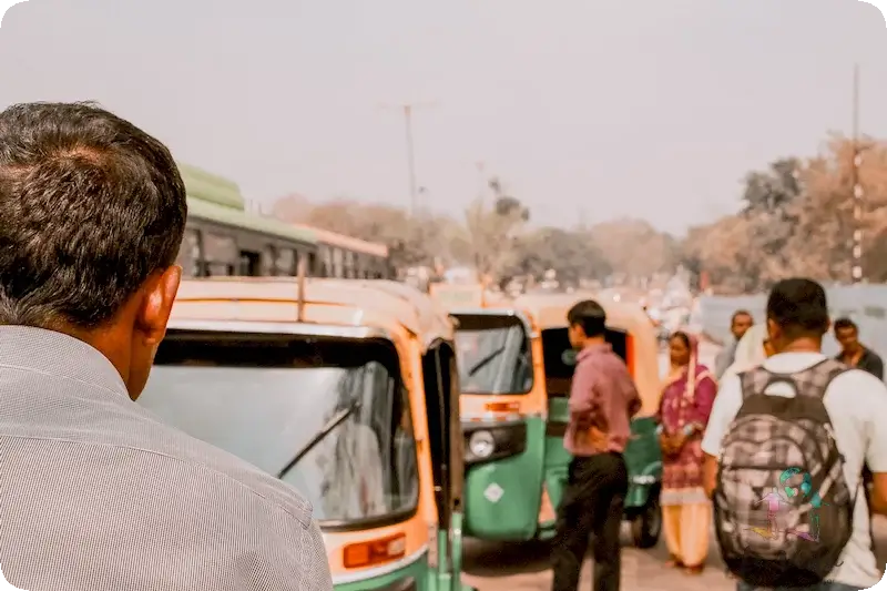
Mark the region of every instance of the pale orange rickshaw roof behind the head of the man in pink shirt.
POLYGON ((638 304, 595 299, 590 293, 522 295, 514 305, 528 310, 539 328, 567 328, 567 313, 583 299, 594 299, 606 313, 606 325, 630 333, 652 329, 650 317, 638 304))

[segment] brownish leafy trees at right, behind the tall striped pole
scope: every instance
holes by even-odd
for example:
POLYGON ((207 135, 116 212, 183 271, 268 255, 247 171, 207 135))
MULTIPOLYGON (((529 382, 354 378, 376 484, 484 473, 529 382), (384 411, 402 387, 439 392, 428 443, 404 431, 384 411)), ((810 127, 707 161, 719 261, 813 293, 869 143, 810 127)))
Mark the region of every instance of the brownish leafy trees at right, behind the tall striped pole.
POLYGON ((854 143, 832 135, 814 157, 781 159, 746 175, 742 211, 689 232, 681 259, 727 291, 763 289, 793 275, 847 282, 860 231, 865 275, 887 281, 887 145, 866 137, 859 147, 859 204, 854 143))

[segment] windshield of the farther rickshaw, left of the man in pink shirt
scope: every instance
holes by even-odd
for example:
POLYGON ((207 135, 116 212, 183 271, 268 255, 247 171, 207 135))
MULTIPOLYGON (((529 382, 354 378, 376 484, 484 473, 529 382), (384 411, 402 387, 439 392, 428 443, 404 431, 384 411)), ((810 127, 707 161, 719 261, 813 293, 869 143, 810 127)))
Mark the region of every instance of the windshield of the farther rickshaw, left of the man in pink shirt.
POLYGON ((456 351, 465 394, 527 394, 533 387, 527 332, 513 316, 459 315, 456 351))

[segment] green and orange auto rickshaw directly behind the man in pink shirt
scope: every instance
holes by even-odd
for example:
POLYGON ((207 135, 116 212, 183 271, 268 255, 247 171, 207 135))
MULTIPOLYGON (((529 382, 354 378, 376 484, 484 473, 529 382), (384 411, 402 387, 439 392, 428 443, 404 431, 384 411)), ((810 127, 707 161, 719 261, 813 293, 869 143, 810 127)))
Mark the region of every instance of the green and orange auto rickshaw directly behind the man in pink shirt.
MULTIPOLYGON (((466 534, 550 539, 571 456, 563 448, 574 354, 567 312, 578 295, 524 295, 452 308, 466 438, 466 534)), ((655 546, 662 458, 652 415, 660 381, 654 329, 640 307, 603 303, 606 338, 634 377, 643 407, 625 450, 625 517, 634 543, 655 546)))

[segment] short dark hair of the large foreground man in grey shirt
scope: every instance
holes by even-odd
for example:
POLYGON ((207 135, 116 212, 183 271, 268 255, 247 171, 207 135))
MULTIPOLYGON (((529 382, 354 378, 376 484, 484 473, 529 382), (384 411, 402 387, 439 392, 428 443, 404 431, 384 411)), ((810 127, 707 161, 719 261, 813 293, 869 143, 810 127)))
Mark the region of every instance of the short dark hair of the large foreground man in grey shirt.
POLYGON ((0 112, 0 325, 94 328, 175 263, 185 186, 170 151, 91 103, 0 112))

